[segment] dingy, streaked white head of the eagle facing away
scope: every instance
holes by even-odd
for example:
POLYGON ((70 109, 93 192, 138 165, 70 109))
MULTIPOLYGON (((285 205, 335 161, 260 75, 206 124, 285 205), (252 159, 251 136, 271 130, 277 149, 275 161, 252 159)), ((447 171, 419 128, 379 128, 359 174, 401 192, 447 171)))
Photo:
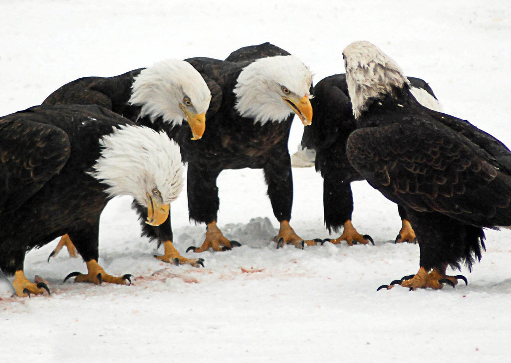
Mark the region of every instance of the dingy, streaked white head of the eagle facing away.
POLYGON ((367 109, 369 100, 381 99, 405 84, 410 86, 397 63, 368 41, 351 43, 342 57, 355 118, 367 109))

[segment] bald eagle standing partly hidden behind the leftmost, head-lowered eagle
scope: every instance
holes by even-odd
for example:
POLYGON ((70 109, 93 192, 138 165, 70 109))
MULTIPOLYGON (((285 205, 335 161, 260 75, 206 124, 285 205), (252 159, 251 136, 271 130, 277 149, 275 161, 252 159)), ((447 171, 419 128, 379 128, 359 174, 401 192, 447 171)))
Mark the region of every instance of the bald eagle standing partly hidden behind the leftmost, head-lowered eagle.
MULTIPOLYGON (((155 130, 171 130, 180 127, 186 120, 188 126, 180 128, 182 137, 197 140, 204 133, 205 113, 211 100, 206 82, 210 81, 205 81, 189 62, 167 59, 119 76, 77 79, 54 91, 42 104, 96 104, 155 130)), ((144 208, 137 203, 133 207, 140 209, 141 223, 146 227, 144 208)), ((184 258, 174 248, 170 213, 163 225, 167 226, 162 227, 165 233, 158 237, 165 246, 166 254, 158 258, 166 262, 203 265, 202 259, 184 258)), ((150 235, 154 237, 154 233, 150 235)), ((73 255, 72 242, 64 235, 50 257, 55 256, 62 246, 67 246, 73 255)))

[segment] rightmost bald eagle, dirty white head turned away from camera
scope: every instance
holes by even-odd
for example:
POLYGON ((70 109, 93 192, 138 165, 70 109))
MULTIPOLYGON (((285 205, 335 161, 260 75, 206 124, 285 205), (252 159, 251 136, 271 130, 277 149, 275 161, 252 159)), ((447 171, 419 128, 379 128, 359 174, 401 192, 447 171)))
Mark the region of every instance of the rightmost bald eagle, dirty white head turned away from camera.
POLYGON ((421 251, 419 272, 393 283, 467 282, 446 269, 464 260, 471 270, 484 249, 483 228, 511 225, 511 152, 467 121, 421 106, 400 67, 375 45, 354 42, 343 58, 357 127, 347 156, 404 207, 421 251))

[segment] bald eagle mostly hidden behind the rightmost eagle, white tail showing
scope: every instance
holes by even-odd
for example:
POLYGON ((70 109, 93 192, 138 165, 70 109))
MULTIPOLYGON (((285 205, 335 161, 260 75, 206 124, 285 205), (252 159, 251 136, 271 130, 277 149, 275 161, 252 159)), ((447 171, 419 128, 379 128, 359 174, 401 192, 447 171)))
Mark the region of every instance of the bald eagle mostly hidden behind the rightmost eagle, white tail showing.
MULTIPOLYGON (((408 77, 411 92, 421 104, 438 110, 439 104, 429 85, 419 78, 408 77)), ((346 156, 346 141, 355 130, 355 118, 347 89, 346 75, 329 76, 314 86, 311 100, 314 122, 304 129, 302 146, 316 151, 316 171, 323 177, 324 222, 329 232, 343 228, 336 239, 326 239, 338 244, 345 240, 353 243, 374 244, 369 235, 362 235, 353 227, 353 193, 351 182, 363 177, 350 164, 346 156)), ((402 228, 396 241, 414 241, 415 234, 406 218, 404 208, 399 207, 402 228)))

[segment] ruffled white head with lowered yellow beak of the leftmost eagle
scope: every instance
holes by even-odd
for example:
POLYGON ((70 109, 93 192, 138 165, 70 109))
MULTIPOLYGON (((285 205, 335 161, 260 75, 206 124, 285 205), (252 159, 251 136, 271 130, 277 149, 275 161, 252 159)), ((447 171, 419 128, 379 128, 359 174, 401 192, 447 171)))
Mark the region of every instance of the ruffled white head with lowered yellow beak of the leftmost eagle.
POLYGON ((108 185, 111 196, 130 195, 147 206, 148 224, 167 219, 170 203, 183 187, 183 165, 177 144, 164 131, 120 126, 100 139, 101 157, 89 174, 108 185))

